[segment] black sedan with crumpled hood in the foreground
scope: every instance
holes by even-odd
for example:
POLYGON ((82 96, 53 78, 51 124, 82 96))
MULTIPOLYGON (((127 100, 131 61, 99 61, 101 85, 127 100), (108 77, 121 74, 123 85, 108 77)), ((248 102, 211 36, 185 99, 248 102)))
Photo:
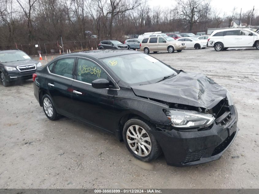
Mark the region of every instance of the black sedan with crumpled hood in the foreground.
POLYGON ((168 165, 213 161, 238 132, 227 89, 138 51, 62 55, 33 78, 50 120, 64 115, 109 131, 145 162, 162 152, 168 165))

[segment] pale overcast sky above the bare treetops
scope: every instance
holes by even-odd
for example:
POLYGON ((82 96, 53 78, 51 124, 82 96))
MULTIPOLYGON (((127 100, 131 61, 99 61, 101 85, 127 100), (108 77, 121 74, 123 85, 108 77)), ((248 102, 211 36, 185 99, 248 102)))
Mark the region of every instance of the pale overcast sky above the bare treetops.
MULTIPOLYGON (((165 6, 175 6, 175 0, 148 0, 148 4, 152 8, 153 6, 159 6, 161 8, 165 6)), ((222 12, 226 12, 231 14, 234 7, 236 7, 236 11, 240 13, 240 9, 242 8, 242 12, 246 12, 247 10, 252 10, 254 6, 255 11, 258 13, 259 10, 259 0, 212 0, 211 7, 216 8, 217 10, 221 10, 222 12)))

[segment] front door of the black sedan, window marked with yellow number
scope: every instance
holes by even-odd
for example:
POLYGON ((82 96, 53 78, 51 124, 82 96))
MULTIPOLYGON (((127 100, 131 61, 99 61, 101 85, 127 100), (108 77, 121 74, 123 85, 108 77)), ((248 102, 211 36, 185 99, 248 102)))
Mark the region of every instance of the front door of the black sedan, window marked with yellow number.
MULTIPOLYGON (((114 132, 115 89, 95 89, 91 83, 96 79, 111 80, 101 66, 90 59, 78 58, 76 79, 72 83, 74 116, 82 121, 114 132)), ((113 82, 113 81, 112 81, 113 82)), ((115 85, 115 83, 113 82, 115 85)))

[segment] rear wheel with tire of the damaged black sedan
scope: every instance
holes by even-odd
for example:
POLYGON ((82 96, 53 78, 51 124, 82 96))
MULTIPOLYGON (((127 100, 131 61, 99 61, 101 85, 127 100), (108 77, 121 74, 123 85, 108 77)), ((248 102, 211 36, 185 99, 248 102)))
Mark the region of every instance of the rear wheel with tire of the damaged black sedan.
POLYGON ((56 112, 56 109, 53 105, 53 101, 48 94, 44 94, 42 97, 42 108, 45 115, 48 117, 48 119, 50 120, 59 119, 59 114, 56 112))

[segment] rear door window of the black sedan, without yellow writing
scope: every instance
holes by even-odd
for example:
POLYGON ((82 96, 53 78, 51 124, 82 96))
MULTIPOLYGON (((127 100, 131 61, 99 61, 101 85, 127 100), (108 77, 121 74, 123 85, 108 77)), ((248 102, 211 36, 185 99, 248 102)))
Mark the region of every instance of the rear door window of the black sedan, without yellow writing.
POLYGON ((74 58, 60 59, 55 65, 54 74, 73 78, 74 58))

